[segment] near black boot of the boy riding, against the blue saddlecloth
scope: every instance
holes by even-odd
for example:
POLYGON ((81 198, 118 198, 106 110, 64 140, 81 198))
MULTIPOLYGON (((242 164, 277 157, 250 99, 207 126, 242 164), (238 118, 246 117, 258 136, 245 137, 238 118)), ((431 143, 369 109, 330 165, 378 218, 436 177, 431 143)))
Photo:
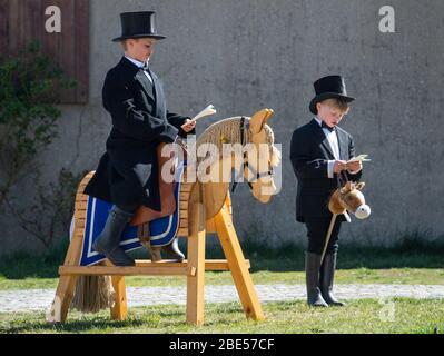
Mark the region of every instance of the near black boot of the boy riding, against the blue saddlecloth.
POLYGON ((131 267, 135 260, 129 258, 120 247, 120 238, 134 214, 126 212, 118 207, 109 211, 103 231, 99 235, 92 248, 105 255, 115 266, 131 267))

